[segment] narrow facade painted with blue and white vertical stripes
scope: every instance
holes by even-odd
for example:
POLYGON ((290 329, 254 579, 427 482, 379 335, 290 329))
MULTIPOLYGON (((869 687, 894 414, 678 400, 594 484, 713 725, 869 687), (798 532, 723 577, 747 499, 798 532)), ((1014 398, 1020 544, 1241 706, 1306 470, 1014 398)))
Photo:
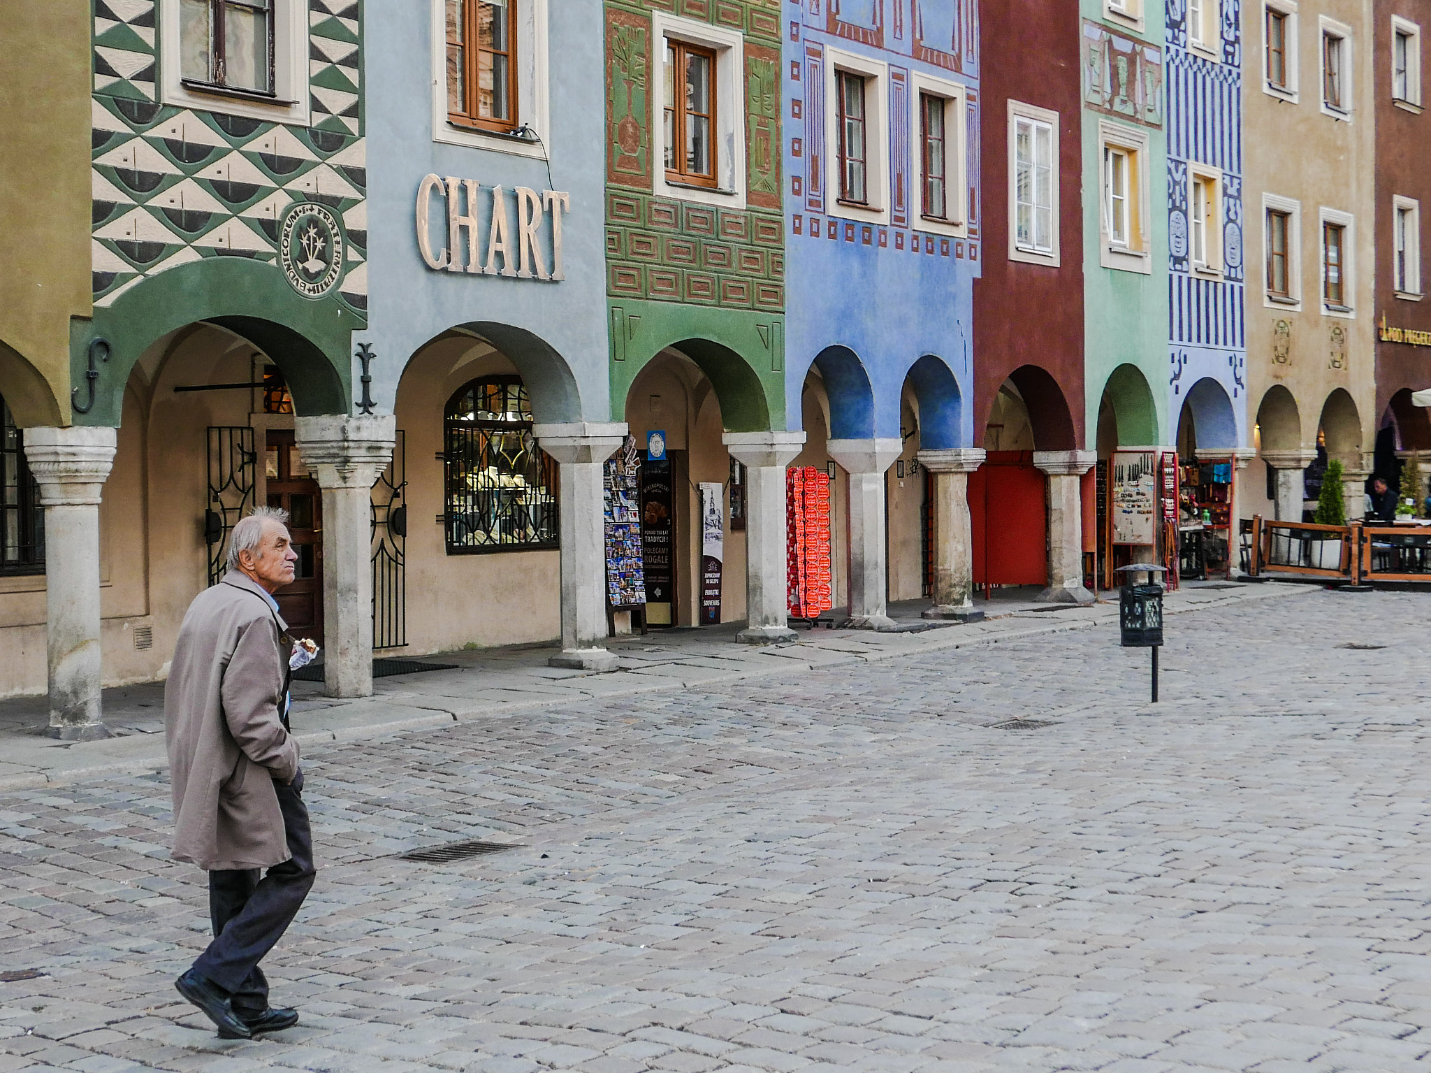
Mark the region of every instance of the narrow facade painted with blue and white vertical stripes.
POLYGON ((1242 207, 1242 0, 1221 0, 1213 60, 1189 47, 1186 0, 1168 0, 1169 432, 1191 406, 1199 448, 1248 445, 1242 207), (1218 275, 1195 272, 1191 166, 1222 176, 1218 275), (1221 391, 1219 391, 1221 388, 1221 391))

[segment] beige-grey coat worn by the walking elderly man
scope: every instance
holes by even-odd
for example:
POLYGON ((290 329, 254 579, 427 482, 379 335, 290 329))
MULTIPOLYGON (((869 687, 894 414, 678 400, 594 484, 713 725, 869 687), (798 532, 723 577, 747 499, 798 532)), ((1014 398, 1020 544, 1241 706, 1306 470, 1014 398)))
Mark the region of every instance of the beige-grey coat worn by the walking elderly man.
POLYGON ((289 858, 273 780, 298 774, 279 714, 290 651, 283 619, 238 571, 189 605, 165 687, 175 860, 219 871, 289 858))

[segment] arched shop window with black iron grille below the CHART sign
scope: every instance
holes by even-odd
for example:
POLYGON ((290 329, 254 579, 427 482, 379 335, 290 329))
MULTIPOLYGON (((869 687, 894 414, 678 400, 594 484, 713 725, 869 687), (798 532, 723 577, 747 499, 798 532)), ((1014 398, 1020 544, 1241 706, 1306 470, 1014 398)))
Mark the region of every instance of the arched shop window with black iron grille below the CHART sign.
POLYGON ((444 413, 448 555, 557 548, 557 464, 518 376, 472 381, 444 413))

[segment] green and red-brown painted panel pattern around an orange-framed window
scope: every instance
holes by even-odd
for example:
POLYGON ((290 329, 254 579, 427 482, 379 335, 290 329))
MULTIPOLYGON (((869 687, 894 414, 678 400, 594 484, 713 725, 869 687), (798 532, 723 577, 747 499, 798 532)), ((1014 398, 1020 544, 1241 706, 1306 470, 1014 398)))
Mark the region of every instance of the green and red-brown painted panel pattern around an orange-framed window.
POLYGON ((784 308, 780 223, 780 1, 622 0, 608 3, 607 293, 731 309, 784 308), (746 34, 747 209, 654 195, 658 132, 651 113, 660 57, 650 11, 660 9, 746 34))

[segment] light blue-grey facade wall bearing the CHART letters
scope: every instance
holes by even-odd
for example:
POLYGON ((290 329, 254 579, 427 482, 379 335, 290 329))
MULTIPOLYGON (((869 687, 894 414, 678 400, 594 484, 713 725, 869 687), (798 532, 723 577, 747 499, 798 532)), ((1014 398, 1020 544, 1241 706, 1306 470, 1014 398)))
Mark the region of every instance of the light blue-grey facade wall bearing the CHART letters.
MULTIPOLYGON (((368 330, 355 333, 355 342, 366 342, 376 355, 371 368, 376 409, 392 412, 402 371, 416 351, 442 332, 465 328, 512 359, 531 392, 538 422, 610 421, 601 3, 545 0, 521 6, 518 46, 534 54, 519 63, 525 82, 518 86, 518 120, 537 130, 541 140, 488 134, 467 136, 468 144, 454 143, 464 134, 434 100, 445 80, 444 7, 441 0, 365 4, 371 306, 368 330), (539 60, 542 53, 550 63, 539 60), (504 152, 505 146, 518 152, 504 152), (542 159, 542 149, 550 162, 542 159), (505 260, 501 253, 492 258, 495 275, 467 270, 467 259, 458 272, 431 268, 416 229, 419 189, 429 175, 444 180, 425 196, 428 252, 439 262, 449 237, 449 177, 477 183, 475 252, 484 265, 492 187, 502 187, 514 245, 522 209, 514 195, 517 187, 539 197, 547 190, 570 195, 570 209, 542 206, 535 243, 537 260, 551 273, 552 213, 562 210, 565 279, 505 275, 498 268, 505 260)), ((458 190, 452 200, 465 212, 467 189, 458 190)), ((531 209, 528 215, 535 219, 531 209)), ((459 243, 467 242, 467 229, 461 229, 459 243)), ((359 373, 355 361, 355 383, 359 373)))

